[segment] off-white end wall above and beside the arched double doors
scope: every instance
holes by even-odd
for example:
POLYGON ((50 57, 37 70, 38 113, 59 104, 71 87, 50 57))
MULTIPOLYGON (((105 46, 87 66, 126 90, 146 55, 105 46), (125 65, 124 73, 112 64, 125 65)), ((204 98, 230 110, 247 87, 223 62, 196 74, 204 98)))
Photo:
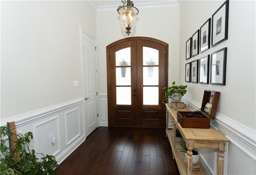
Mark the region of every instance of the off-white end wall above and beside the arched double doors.
MULTIPOLYGON (((134 2, 135 3, 135 2, 134 2)), ((134 4, 139 9, 135 30, 127 36, 121 30, 119 14, 116 8, 111 11, 97 12, 97 38, 99 60, 99 91, 107 92, 106 75, 106 46, 131 36, 146 36, 162 40, 169 44, 169 82, 178 82, 178 58, 179 58, 179 35, 180 35, 180 8, 178 3, 172 6, 157 8, 143 8, 134 4), (107 21, 107 22, 106 22, 107 21)))

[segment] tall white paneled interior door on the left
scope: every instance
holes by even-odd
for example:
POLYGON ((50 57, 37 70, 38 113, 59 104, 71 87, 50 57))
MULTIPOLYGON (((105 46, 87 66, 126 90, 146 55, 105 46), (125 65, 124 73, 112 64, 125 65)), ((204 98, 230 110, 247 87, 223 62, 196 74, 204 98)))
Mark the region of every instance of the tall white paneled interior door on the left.
POLYGON ((86 137, 98 127, 96 38, 80 27, 82 50, 82 94, 86 137))

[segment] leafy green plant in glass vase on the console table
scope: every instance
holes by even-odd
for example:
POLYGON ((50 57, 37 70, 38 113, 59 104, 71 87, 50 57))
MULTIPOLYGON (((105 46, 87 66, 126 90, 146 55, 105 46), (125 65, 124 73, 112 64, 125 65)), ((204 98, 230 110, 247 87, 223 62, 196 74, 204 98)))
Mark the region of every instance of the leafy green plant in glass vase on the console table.
POLYGON ((172 86, 169 86, 167 88, 164 87, 165 96, 164 96, 164 99, 162 100, 163 103, 168 103, 169 98, 170 98, 170 99, 172 99, 170 107, 174 107, 174 106, 176 106, 178 108, 186 107, 186 104, 181 103, 180 100, 181 100, 182 96, 186 94, 187 87, 188 86, 183 86, 183 85, 176 86, 175 81, 172 82, 172 86), (180 103, 180 104, 178 104, 178 103, 180 103))

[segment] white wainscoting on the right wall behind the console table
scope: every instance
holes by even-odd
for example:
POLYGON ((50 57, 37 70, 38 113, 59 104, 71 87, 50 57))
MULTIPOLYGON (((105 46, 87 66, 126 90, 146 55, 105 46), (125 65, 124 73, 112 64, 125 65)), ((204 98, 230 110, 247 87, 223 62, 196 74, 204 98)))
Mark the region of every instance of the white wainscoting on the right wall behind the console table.
MULTIPOLYGON (((182 97, 182 99, 192 111, 201 107, 201 104, 196 101, 186 97, 182 97)), ((224 174, 256 174, 256 131, 220 113, 216 113, 215 119, 211 120, 210 124, 230 140, 226 144, 224 155, 224 174)), ((208 174, 218 174, 218 150, 199 149, 199 152, 202 165, 208 174)))

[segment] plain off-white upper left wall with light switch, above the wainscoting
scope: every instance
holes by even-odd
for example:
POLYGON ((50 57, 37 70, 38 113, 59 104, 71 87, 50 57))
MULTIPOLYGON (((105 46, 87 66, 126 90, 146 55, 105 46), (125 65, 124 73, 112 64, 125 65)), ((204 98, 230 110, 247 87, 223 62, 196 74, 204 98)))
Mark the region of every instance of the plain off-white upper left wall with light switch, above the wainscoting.
POLYGON ((80 24, 86 1, 1 1, 1 119, 82 97, 80 24))

